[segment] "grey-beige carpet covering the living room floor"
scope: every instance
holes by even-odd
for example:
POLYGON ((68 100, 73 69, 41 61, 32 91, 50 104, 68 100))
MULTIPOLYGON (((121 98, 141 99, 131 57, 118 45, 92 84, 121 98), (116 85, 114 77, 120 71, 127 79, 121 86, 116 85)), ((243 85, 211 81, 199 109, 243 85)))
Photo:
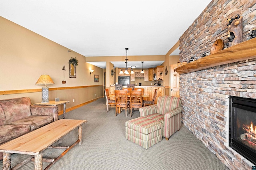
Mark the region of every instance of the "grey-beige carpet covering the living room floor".
MULTIPOLYGON (((82 145, 74 146, 51 170, 228 170, 183 125, 168 141, 163 139, 147 150, 126 140, 124 124, 139 117, 139 111, 134 111, 132 117, 125 117, 125 111, 115 117, 114 108, 106 113, 105 102, 102 98, 66 113, 66 119, 88 121, 82 128, 82 145)), ((62 145, 71 145, 77 137, 78 129, 75 129, 63 137, 62 145)), ((44 158, 56 158, 63 151, 46 149, 43 155, 44 158)), ((12 166, 27 157, 12 154, 12 166)), ((43 168, 48 164, 43 163, 43 168)), ((29 162, 20 169, 33 170, 34 163, 29 162)))

